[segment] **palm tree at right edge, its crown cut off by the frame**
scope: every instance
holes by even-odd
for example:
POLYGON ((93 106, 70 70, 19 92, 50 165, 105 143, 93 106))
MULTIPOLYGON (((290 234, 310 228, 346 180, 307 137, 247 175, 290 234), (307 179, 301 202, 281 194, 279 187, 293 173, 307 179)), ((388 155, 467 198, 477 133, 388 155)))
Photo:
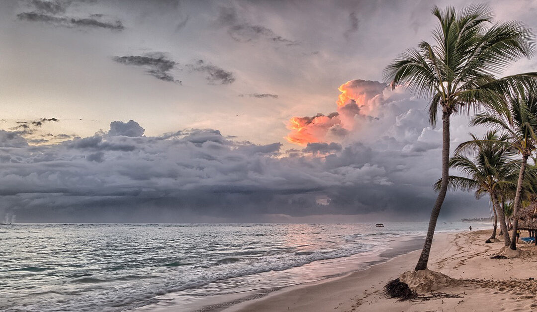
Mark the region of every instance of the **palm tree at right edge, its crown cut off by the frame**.
MULTIPOLYGON (((513 233, 518 229, 518 212, 523 197, 523 182, 529 156, 537 149, 537 95, 521 93, 510 99, 509 111, 486 111, 471 119, 473 125, 489 125, 503 130, 511 136, 511 142, 522 156, 517 191, 513 202, 513 233)), ((517 249, 517 237, 511 240, 510 248, 517 249)))

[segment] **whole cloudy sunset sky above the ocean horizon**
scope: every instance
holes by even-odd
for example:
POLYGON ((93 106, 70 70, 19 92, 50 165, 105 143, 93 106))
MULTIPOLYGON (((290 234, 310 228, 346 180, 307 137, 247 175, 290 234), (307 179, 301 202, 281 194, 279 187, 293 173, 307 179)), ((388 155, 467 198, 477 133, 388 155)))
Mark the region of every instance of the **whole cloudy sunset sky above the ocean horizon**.
MULTIPOLYGON (((486 3, 537 30, 536 1, 486 3)), ((2 1, 0 220, 427 220, 440 129, 382 70, 434 4, 467 3, 2 1)), ((457 192, 440 219, 488 215, 457 192)))

